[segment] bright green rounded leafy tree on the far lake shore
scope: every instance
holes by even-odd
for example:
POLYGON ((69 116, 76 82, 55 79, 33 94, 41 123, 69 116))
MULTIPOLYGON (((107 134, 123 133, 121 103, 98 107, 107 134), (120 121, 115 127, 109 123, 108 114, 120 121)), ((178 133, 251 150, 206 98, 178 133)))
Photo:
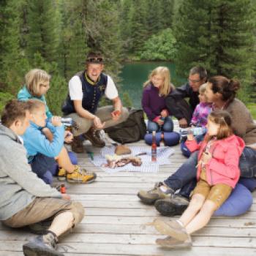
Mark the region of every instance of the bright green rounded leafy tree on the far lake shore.
POLYGON ((164 29, 151 36, 144 44, 140 58, 156 61, 173 60, 176 55, 176 39, 171 29, 164 29))

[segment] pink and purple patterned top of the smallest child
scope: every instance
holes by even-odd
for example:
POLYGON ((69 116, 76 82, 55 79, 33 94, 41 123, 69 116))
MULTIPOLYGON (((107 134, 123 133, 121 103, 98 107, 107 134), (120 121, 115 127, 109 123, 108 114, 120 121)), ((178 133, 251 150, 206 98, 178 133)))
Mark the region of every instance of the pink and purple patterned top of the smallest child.
POLYGON ((208 114, 211 113, 212 103, 201 102, 195 107, 191 124, 195 127, 206 127, 208 114))

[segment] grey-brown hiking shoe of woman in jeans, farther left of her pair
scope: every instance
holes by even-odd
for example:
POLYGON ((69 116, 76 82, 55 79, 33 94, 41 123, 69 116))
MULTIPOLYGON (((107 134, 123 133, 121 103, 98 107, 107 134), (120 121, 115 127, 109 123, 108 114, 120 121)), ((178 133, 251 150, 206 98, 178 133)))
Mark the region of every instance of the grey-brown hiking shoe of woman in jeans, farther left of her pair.
POLYGON ((167 187, 162 182, 157 182, 154 185, 154 189, 151 189, 148 191, 140 190, 140 192, 138 192, 138 197, 140 197, 140 200, 143 203, 152 205, 159 199, 171 197, 173 193, 174 193, 173 189, 171 189, 170 187, 167 187))

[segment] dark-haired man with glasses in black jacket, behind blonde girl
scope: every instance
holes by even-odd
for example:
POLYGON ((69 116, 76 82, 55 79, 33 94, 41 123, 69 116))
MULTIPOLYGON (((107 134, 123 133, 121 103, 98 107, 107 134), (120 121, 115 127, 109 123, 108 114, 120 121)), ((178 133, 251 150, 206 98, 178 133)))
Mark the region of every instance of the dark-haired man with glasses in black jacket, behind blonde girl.
POLYGON ((207 72, 203 67, 192 67, 189 72, 188 83, 176 88, 166 97, 166 105, 173 116, 178 119, 181 128, 186 128, 192 118, 192 113, 199 103, 199 88, 206 83, 207 72), (189 98, 189 104, 184 100, 189 98))

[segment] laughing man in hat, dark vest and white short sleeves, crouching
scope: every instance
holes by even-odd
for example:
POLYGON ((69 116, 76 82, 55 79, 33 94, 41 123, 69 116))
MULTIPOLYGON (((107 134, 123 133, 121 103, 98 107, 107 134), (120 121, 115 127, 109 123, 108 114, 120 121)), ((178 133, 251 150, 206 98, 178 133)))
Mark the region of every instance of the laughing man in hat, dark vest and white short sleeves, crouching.
POLYGON ((62 111, 75 121, 71 146, 76 153, 84 151, 80 135, 90 140, 93 146, 104 147, 100 129, 112 127, 128 117, 128 110, 122 107, 112 78, 102 72, 103 68, 102 55, 89 53, 86 70, 78 72, 69 80, 69 94, 62 111), (103 95, 112 100, 113 106, 98 108, 103 95))

